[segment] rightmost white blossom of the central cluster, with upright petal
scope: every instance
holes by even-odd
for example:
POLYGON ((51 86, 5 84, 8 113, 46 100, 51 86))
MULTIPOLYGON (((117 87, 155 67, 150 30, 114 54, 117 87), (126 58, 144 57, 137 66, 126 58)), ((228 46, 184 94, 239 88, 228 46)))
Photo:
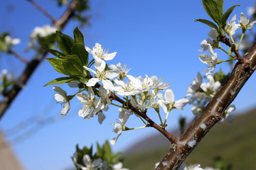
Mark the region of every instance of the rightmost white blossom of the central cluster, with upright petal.
POLYGON ((157 95, 159 97, 159 105, 164 109, 165 113, 169 113, 172 108, 183 110, 183 107, 188 103, 186 98, 174 101, 174 92, 171 89, 166 89, 164 97, 162 94, 157 95))

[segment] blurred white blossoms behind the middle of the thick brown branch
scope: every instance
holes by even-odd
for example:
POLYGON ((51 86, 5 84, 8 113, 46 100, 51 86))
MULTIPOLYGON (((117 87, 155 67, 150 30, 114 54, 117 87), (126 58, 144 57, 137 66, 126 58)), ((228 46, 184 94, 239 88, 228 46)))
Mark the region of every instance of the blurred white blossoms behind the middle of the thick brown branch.
MULTIPOLYGON (((220 88, 220 81, 215 81, 213 76, 208 75, 206 79, 208 82, 203 82, 203 77, 198 72, 197 78, 195 78, 193 82, 189 84, 187 89, 188 94, 185 96, 185 98, 189 98, 189 104, 193 105, 191 111, 194 115, 199 115, 201 111, 203 111, 203 108, 206 107, 211 98, 213 98, 215 93, 220 88)), ((235 106, 228 106, 223 114, 223 119, 220 121, 227 120, 228 122, 232 122, 233 117, 229 114, 232 111, 235 111, 235 106)))

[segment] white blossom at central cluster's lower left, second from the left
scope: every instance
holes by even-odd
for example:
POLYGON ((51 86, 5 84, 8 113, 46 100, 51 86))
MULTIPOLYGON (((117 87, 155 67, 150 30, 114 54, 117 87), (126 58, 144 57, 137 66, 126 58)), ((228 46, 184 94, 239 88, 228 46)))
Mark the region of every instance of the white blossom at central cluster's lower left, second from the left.
MULTIPOLYGON (((104 108, 104 105, 100 101, 100 99, 95 98, 95 94, 92 91, 91 87, 88 87, 88 94, 89 96, 82 93, 78 93, 75 95, 82 104, 85 103, 85 105, 82 106, 82 108, 78 112, 78 115, 82 118, 87 118, 87 120, 94 117, 96 113, 99 113, 102 110, 102 108, 104 108)), ((102 121, 105 119, 105 116, 103 116, 102 114, 103 113, 101 112, 98 114, 100 123, 102 123, 102 121)))

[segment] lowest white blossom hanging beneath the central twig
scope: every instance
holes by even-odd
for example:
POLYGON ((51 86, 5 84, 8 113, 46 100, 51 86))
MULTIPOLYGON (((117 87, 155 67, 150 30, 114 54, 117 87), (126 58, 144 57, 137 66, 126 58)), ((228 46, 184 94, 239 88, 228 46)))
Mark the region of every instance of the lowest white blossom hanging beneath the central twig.
POLYGON ((114 124, 114 132, 117 133, 117 137, 114 137, 112 140, 110 140, 110 143, 114 145, 117 142, 118 137, 122 134, 122 131, 126 129, 124 124, 127 122, 129 115, 131 115, 131 111, 125 109, 125 108, 119 108, 119 123, 114 124))

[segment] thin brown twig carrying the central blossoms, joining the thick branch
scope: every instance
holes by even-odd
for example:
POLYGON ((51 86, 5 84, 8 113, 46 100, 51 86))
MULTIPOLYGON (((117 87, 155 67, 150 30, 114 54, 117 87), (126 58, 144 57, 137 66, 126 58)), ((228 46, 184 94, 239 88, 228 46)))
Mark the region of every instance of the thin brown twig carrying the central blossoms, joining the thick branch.
MULTIPOLYGON (((111 96, 110 98, 112 98, 114 101, 118 101, 119 103, 122 103, 124 104, 125 101, 123 101, 121 98, 119 98, 117 95, 113 94, 111 92, 111 96)), ((167 139, 174 143, 176 142, 177 138, 174 136, 174 135, 171 135, 169 132, 167 132, 164 128, 161 128, 159 125, 157 125, 156 123, 154 123, 153 120, 151 120, 147 115, 146 113, 142 113, 140 111, 138 111, 137 108, 134 108, 132 106, 131 103, 129 103, 129 108, 134 111, 134 113, 137 113, 137 115, 141 116, 142 118, 144 118, 144 120, 146 120, 148 123, 149 123, 149 126, 152 127, 152 128, 155 128, 156 130, 158 130, 159 132, 161 132, 161 134, 163 134, 165 137, 167 137, 167 139)))

